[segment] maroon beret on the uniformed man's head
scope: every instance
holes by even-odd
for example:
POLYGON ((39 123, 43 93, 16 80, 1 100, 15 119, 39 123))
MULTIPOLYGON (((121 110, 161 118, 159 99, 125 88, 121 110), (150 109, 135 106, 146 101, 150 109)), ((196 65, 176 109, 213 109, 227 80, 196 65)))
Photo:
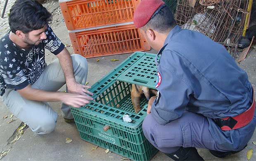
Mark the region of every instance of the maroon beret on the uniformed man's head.
POLYGON ((146 25, 161 5, 164 5, 162 0, 142 0, 134 12, 133 23, 135 27, 141 28, 146 25))

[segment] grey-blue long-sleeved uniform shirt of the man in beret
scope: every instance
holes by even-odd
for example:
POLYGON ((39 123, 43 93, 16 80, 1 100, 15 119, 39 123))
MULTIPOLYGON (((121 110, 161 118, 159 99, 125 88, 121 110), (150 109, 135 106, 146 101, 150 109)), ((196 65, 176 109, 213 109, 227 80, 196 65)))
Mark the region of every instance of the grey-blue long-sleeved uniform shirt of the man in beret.
POLYGON ((251 106, 252 86, 247 73, 224 46, 178 25, 168 34, 160 54, 156 62, 159 97, 151 109, 155 120, 166 124, 188 110, 208 118, 209 130, 220 136, 218 141, 232 142, 236 130, 222 131, 212 118, 236 116, 251 106))

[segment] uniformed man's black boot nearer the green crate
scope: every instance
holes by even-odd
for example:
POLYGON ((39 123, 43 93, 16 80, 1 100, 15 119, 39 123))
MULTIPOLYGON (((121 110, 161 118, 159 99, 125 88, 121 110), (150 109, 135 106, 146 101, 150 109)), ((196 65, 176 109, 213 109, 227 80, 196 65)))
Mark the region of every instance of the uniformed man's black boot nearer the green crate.
POLYGON ((176 152, 166 155, 175 161, 204 161, 195 147, 180 147, 176 152))

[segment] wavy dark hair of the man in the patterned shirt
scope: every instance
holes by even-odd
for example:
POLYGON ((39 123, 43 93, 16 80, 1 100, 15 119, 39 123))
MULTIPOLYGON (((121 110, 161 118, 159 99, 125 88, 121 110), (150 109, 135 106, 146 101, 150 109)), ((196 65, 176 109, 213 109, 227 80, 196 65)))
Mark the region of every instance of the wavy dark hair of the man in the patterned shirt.
POLYGON ((15 34, 17 30, 28 33, 43 28, 52 21, 52 14, 36 0, 16 0, 9 14, 9 26, 15 34))

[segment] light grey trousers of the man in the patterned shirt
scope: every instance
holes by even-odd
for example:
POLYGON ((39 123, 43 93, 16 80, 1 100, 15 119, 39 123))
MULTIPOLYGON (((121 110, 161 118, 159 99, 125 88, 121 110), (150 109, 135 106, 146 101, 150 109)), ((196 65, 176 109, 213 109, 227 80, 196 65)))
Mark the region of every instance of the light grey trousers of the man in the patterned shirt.
MULTIPOLYGON (((84 85, 88 71, 87 60, 78 54, 71 55, 71 58, 76 81, 84 85)), ((45 67, 43 73, 32 87, 46 91, 57 91, 65 83, 64 73, 59 60, 56 59, 45 67)), ((51 108, 49 103, 24 99, 19 92, 13 89, 6 89, 2 99, 13 115, 28 124, 33 132, 45 134, 55 129, 58 114, 51 108)), ((61 110, 64 118, 73 118, 69 106, 62 103, 61 110)))

